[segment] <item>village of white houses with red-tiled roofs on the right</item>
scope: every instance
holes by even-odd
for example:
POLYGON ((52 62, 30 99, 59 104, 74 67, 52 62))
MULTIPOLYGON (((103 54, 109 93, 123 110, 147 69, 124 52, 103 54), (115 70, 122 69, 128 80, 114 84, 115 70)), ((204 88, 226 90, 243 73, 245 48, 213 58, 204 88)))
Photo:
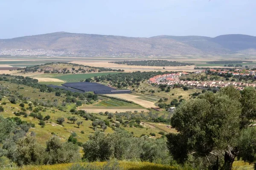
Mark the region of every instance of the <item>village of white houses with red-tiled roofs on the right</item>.
MULTIPOLYGON (((256 71, 247 71, 248 73, 241 73, 241 69, 235 69, 234 71, 229 71, 229 70, 215 70, 215 69, 210 69, 210 70, 202 70, 202 71, 197 71, 192 74, 200 74, 203 72, 214 72, 217 74, 231 74, 232 76, 255 76, 256 71)), ((175 86, 175 85, 180 85, 180 86, 189 86, 189 87, 202 87, 202 88, 223 88, 227 87, 229 85, 233 85, 236 87, 238 90, 243 90, 244 87, 256 87, 256 83, 250 82, 235 82, 235 81, 189 81, 189 80, 180 80, 179 77, 182 75, 187 75, 190 73, 187 72, 178 72, 178 73, 172 73, 172 74, 163 74, 163 75, 157 75, 148 80, 148 83, 152 84, 157 84, 157 85, 169 85, 169 86, 175 86)))

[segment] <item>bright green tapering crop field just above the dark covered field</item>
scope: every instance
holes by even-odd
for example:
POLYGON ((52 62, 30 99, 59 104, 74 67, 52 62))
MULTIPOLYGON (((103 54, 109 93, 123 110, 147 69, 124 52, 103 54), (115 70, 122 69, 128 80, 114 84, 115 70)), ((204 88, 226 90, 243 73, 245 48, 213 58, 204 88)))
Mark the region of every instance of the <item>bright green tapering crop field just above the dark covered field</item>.
POLYGON ((118 74, 116 72, 108 72, 108 73, 89 73, 89 74, 68 74, 64 76, 54 77, 56 79, 61 79, 65 82, 79 82, 81 80, 89 79, 95 76, 103 76, 108 74, 118 74))

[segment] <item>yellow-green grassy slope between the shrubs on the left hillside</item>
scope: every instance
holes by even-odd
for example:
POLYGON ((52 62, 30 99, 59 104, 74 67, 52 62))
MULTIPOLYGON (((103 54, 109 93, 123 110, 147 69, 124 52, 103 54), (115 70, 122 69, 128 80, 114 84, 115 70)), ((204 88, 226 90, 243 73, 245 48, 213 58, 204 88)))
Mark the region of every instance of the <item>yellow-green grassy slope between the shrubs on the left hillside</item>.
MULTIPOLYGON (((40 92, 38 89, 35 89, 35 93, 32 93, 34 91, 33 88, 26 87, 23 85, 20 85, 19 87, 24 87, 24 89, 18 89, 16 84, 10 84, 6 82, 4 84, 9 85, 10 89, 17 90, 20 94, 23 94, 24 97, 25 96, 31 97, 31 99, 43 99, 43 98, 52 99, 52 100, 58 99, 58 101, 61 102, 65 98, 63 95, 58 97, 58 96, 55 96, 54 93, 43 93, 43 92, 40 92)), ((3 98, 1 102, 7 102, 7 105, 3 105, 5 111, 1 113, 5 117, 9 117, 9 116, 14 117, 15 115, 13 114, 13 112, 20 110, 19 103, 11 104, 9 103, 9 100, 6 97, 3 98)), ((75 106, 74 104, 68 105, 65 108, 67 112, 59 111, 56 108, 47 109, 46 112, 40 112, 43 116, 46 116, 46 115, 51 116, 51 118, 43 128, 40 125, 38 125, 39 120, 36 118, 30 117, 30 116, 26 118, 23 116, 18 116, 18 117, 20 117, 20 119, 25 120, 27 122, 35 123, 35 128, 31 128, 30 131, 35 131, 36 138, 38 139, 38 142, 40 142, 41 144, 45 144, 45 142, 52 136, 51 134, 52 132, 55 133, 57 136, 59 136, 63 140, 67 140, 71 132, 76 132, 78 134, 77 139, 81 142, 84 142, 88 139, 88 136, 90 134, 94 133, 91 126, 92 121, 90 120, 86 121, 83 118, 81 119, 79 116, 77 116, 78 121, 83 121, 83 125, 81 125, 80 128, 77 128, 76 124, 70 123, 70 121, 67 120, 67 117, 73 116, 73 115, 68 111, 74 106, 75 106), (64 126, 56 124, 57 122, 55 120, 58 117, 65 118, 65 122, 63 123, 64 126), (84 131, 84 134, 81 134, 81 130, 84 131)), ((26 107, 27 105, 25 104, 25 108, 26 107)), ((27 111, 27 113, 29 113, 29 111, 27 111)), ((106 132, 107 133, 113 132, 113 130, 111 128, 108 128, 106 132)))

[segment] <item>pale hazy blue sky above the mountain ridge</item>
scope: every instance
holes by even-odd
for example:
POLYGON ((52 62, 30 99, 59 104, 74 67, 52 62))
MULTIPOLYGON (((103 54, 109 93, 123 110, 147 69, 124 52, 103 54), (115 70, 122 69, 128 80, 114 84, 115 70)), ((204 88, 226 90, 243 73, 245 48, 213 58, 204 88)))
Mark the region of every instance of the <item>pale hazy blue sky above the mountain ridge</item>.
POLYGON ((256 0, 0 0, 0 38, 57 31, 256 36, 256 0))

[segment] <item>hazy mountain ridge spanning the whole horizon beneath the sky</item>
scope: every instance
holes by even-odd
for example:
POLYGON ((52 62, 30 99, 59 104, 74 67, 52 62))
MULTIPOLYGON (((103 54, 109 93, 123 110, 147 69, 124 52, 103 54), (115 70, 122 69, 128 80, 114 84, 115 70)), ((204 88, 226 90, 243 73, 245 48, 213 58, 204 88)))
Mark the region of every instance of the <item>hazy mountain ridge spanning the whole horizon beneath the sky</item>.
POLYGON ((0 39, 0 55, 171 56, 255 52, 256 37, 241 34, 138 38, 56 32, 0 39))

